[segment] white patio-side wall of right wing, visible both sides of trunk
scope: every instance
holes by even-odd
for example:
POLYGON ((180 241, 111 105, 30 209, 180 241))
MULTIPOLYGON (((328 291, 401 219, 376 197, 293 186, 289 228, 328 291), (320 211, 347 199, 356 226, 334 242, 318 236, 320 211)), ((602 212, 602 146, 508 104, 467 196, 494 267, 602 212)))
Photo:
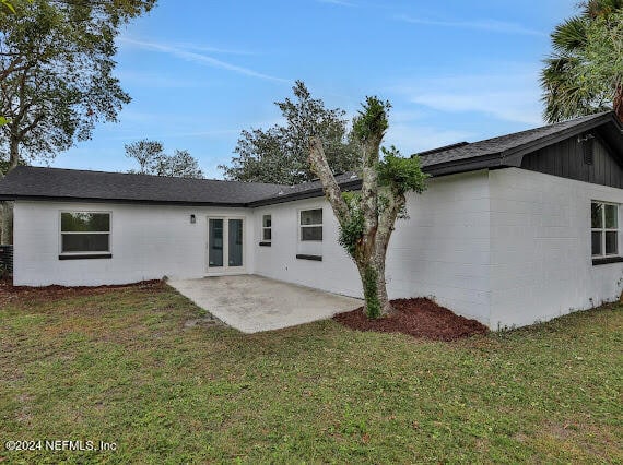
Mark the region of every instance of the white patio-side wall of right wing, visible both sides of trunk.
MULTIPOLYGON (((486 171, 431 180, 408 199, 387 257, 390 298, 434 296, 460 314, 489 322, 489 184, 486 171)), ((338 243, 338 223, 324 199, 256 211, 256 230, 272 215, 272 247, 256 248, 256 273, 331 293, 362 297, 356 266, 338 243), (322 262, 297 260, 297 211, 324 208, 322 262)))

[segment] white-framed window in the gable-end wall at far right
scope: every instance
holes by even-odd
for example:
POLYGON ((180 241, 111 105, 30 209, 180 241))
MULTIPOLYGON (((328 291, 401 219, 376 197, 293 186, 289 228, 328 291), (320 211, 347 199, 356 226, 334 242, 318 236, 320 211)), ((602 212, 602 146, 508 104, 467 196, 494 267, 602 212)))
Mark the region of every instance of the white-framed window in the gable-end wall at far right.
POLYGON ((590 243, 592 258, 619 254, 619 205, 590 203, 590 243))

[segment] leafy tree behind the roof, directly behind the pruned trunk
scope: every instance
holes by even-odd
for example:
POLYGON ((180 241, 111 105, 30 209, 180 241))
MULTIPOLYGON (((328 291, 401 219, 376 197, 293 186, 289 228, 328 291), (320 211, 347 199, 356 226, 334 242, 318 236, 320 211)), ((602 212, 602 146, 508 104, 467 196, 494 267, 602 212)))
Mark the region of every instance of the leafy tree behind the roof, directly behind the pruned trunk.
POLYGON ((307 163, 310 136, 322 139, 327 159, 333 172, 352 170, 358 154, 348 133, 345 111, 327 109, 302 81, 292 87, 295 100, 275 102, 285 124, 268 130, 244 130, 238 139, 232 165, 220 165, 225 178, 236 181, 295 184, 315 178, 307 163))

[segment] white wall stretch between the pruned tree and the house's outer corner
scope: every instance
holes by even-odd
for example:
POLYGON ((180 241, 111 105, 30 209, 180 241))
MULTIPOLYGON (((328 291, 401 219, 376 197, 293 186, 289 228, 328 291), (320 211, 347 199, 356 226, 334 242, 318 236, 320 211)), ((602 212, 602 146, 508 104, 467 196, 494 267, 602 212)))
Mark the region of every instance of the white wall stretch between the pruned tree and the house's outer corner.
POLYGON ((489 323, 490 225, 485 170, 432 179, 408 199, 387 254, 391 298, 431 296, 458 314, 489 323))

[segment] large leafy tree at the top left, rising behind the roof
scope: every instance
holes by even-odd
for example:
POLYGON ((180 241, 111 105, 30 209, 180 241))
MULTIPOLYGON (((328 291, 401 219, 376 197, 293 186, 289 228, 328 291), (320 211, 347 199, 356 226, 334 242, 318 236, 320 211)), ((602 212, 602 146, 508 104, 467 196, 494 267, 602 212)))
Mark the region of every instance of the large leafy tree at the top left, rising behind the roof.
MULTIPOLYGON (((11 0, 0 14, 0 159, 52 158, 116 121, 130 96, 113 75, 120 27, 156 0, 11 0), (9 4, 11 7, 9 7, 9 4)), ((0 174, 2 176, 2 174, 0 174)), ((2 203, 2 242, 12 241, 2 203)))

